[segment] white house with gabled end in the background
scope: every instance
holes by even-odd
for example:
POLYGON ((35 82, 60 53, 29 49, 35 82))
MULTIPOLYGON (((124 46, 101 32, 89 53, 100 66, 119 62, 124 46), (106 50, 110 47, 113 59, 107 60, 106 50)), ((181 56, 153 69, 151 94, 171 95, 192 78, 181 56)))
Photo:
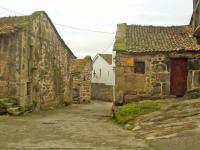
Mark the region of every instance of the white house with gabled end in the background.
POLYGON ((97 54, 93 59, 92 83, 115 85, 112 54, 97 54))

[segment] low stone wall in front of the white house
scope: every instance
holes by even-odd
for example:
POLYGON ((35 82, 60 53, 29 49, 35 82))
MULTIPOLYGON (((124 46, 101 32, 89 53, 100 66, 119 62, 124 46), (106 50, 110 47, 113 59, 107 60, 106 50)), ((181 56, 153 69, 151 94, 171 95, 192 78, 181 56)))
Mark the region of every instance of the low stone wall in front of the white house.
POLYGON ((92 99, 112 102, 113 86, 104 83, 92 83, 92 99))

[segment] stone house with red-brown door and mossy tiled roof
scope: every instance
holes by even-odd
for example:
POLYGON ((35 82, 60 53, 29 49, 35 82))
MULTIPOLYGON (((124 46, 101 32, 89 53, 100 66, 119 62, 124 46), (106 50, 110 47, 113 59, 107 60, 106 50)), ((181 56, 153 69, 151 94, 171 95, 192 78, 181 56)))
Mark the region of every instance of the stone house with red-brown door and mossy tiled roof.
POLYGON ((114 52, 116 103, 200 88, 200 46, 191 26, 119 24, 114 52))

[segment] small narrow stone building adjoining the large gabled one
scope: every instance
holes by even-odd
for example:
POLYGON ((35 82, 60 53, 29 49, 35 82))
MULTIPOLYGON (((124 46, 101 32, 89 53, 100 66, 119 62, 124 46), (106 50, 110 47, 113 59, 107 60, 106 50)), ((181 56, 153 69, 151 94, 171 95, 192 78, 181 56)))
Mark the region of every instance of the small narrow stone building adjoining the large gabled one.
POLYGON ((72 100, 74 103, 89 103, 91 100, 92 59, 74 59, 71 63, 72 100))

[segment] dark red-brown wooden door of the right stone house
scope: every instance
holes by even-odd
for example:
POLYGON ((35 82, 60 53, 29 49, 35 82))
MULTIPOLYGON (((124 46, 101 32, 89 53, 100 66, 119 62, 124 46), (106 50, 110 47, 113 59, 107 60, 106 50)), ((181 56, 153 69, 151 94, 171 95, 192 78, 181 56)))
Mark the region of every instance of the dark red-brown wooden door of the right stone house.
POLYGON ((187 59, 173 58, 171 59, 171 83, 170 91, 172 95, 182 97, 187 91, 187 59))

